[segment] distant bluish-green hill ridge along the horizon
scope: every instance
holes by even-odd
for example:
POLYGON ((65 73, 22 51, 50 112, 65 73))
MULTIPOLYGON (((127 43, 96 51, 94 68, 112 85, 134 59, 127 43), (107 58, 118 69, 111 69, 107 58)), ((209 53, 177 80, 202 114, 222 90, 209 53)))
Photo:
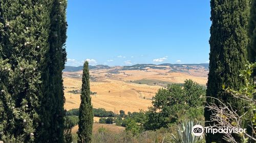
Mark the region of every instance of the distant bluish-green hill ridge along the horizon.
MULTIPOLYGON (((186 67, 187 68, 192 68, 194 67, 204 67, 205 69, 208 70, 209 64, 208 63, 199 63, 199 64, 170 64, 170 63, 163 63, 163 64, 135 64, 135 65, 131 65, 131 66, 120 66, 122 67, 121 70, 144 70, 146 67, 150 67, 150 68, 154 68, 154 69, 165 69, 165 66, 169 66, 172 68, 177 68, 177 67, 186 67)), ((69 72, 75 72, 75 71, 79 71, 82 70, 83 66, 65 66, 65 69, 63 69, 63 71, 69 71, 69 72)), ((112 67, 108 66, 108 65, 96 65, 96 66, 92 66, 89 65, 89 69, 110 69, 112 67)))

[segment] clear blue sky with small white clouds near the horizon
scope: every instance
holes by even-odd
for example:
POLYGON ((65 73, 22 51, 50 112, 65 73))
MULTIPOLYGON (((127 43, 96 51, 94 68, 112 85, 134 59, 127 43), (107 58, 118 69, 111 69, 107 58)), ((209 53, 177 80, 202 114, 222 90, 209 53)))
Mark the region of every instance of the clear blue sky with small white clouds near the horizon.
POLYGON ((70 0, 66 65, 207 63, 209 0, 70 0))

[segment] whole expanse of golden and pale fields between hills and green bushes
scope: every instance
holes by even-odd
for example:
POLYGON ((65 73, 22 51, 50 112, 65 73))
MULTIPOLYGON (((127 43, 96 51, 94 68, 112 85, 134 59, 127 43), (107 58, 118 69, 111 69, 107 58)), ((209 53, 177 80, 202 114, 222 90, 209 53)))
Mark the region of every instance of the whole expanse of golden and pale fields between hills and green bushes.
MULTIPOLYGON (((116 72, 118 68, 90 70, 91 91, 97 92, 95 96, 91 96, 93 108, 104 108, 115 113, 119 113, 119 110, 124 110, 125 113, 139 111, 139 109, 147 110, 152 105, 152 97, 158 89, 164 88, 159 86, 161 83, 184 83, 186 79, 202 85, 207 82, 207 71, 201 68, 189 70, 186 73, 150 67, 146 70, 116 72)), ((79 108, 80 94, 68 91, 81 88, 81 74, 82 71, 63 73, 67 110, 79 108), (74 75, 75 78, 73 78, 74 75)))

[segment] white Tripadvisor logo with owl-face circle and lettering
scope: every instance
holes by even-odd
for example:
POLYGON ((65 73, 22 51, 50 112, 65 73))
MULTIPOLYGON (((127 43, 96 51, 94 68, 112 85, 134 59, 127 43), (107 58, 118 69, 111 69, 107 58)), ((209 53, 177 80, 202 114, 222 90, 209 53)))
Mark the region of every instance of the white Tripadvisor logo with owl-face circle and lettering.
POLYGON ((195 136, 201 136, 204 132, 205 133, 211 133, 211 134, 216 134, 216 133, 245 133, 246 129, 241 129, 241 128, 230 128, 230 127, 224 127, 224 128, 212 128, 212 127, 202 127, 201 125, 195 125, 192 128, 192 133, 195 136))

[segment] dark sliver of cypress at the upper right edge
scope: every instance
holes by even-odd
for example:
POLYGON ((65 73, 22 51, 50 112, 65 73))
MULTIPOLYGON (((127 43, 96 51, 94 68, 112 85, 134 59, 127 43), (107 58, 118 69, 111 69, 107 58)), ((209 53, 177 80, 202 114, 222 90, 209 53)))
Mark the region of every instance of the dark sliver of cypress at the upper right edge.
MULTIPOLYGON (((250 44, 248 45, 248 59, 255 62, 256 58, 256 1, 251 0, 250 19, 249 19, 248 35, 250 44)), ((254 74, 255 75, 255 74, 254 74)))

